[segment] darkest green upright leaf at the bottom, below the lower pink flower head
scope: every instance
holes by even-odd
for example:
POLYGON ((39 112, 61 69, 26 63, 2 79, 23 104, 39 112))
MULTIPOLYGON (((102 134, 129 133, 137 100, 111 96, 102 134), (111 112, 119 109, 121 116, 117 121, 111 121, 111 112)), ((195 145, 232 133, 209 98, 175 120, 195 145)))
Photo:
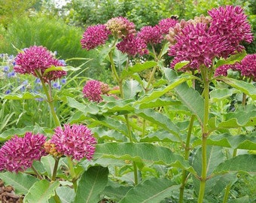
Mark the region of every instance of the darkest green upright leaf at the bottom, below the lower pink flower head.
POLYGON ((74 203, 97 203, 100 194, 108 183, 108 168, 90 167, 81 177, 74 203))

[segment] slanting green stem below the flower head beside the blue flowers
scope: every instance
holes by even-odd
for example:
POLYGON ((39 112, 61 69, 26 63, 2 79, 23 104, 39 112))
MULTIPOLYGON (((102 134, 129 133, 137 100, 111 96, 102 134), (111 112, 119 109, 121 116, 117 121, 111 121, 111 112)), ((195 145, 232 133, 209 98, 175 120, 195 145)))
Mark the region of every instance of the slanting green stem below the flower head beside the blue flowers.
MULTIPOLYGON (((35 73, 37 74, 37 76, 41 80, 41 84, 43 86, 44 93, 47 96, 47 102, 48 102, 48 104, 50 106, 50 113, 51 113, 51 115, 53 117, 54 124, 55 124, 55 126, 61 126, 61 124, 59 122, 59 118, 57 117, 56 112, 54 110, 53 99, 51 98, 50 91, 48 91, 47 86, 45 85, 44 79, 41 76, 41 73, 39 71, 37 71, 37 70, 35 70, 35 73)), ((49 86, 50 86, 50 84, 49 84, 49 86)))

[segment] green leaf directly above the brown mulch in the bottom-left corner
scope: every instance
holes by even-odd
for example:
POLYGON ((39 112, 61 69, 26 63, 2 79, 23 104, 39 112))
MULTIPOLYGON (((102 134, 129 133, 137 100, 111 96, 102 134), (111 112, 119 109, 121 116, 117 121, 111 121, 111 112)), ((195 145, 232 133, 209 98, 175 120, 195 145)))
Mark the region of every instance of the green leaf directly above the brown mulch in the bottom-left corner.
POLYGON ((5 182, 5 186, 14 186, 16 194, 23 194, 29 192, 30 187, 38 181, 32 175, 24 173, 11 173, 6 171, 5 173, 0 173, 0 178, 5 182))

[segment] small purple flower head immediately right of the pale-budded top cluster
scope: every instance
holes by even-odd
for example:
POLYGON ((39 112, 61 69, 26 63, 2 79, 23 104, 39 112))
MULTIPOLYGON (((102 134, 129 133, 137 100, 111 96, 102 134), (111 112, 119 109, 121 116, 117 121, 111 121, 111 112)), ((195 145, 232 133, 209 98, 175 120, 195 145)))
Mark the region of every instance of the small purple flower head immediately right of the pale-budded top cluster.
POLYGON ((160 44, 163 40, 163 35, 158 26, 144 26, 137 36, 142 38, 146 44, 160 44))

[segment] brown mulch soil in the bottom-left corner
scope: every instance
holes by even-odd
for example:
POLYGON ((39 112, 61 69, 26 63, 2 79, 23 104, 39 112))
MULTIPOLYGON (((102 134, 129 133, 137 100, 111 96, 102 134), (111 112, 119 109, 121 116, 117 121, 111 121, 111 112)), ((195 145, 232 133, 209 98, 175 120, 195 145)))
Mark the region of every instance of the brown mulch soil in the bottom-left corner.
POLYGON ((21 203, 23 196, 16 195, 12 186, 5 186, 4 181, 0 179, 0 203, 21 203))

